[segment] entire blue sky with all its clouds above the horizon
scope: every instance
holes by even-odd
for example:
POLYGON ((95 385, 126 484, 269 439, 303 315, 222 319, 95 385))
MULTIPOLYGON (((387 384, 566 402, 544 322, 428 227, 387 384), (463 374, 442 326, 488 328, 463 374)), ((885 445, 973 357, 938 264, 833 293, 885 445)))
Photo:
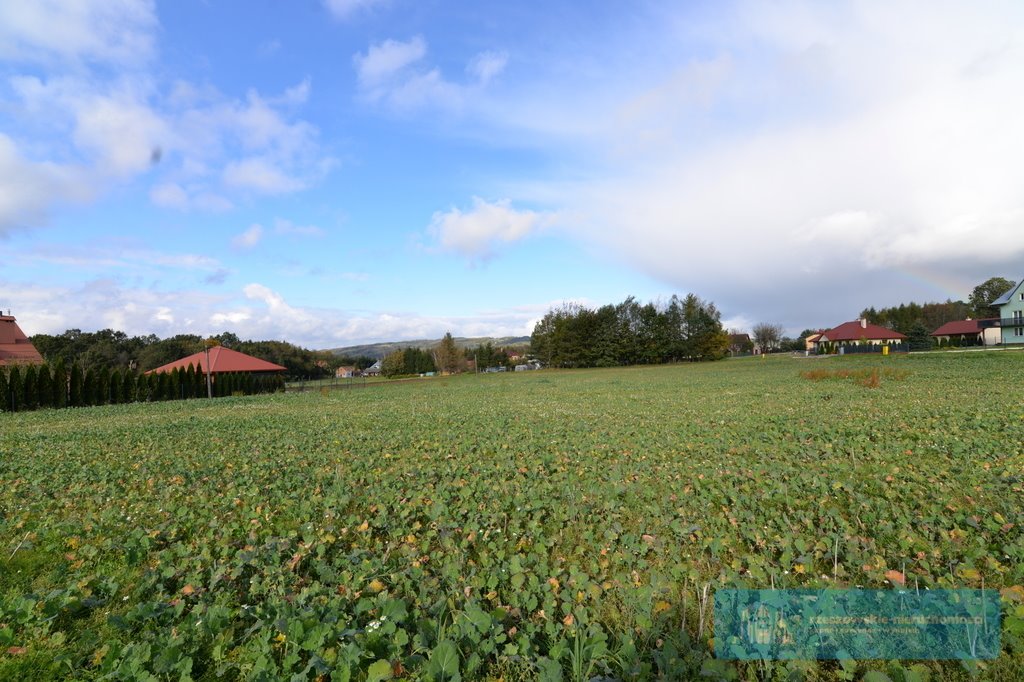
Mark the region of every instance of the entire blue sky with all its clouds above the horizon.
POLYGON ((791 332, 1024 276, 1019 2, 0 2, 30 334, 791 332))

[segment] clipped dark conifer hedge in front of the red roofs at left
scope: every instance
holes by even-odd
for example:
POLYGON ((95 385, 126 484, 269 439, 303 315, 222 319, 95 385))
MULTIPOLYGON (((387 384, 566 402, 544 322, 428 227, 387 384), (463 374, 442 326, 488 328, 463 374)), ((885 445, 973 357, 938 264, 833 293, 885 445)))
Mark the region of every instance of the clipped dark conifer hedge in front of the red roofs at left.
MULTIPOLYGON (((216 375, 214 397, 271 393, 285 388, 281 376, 249 373, 216 375)), ((137 374, 131 370, 98 369, 63 359, 54 365, 12 365, 0 368, 0 412, 42 408, 86 408, 126 402, 181 400, 207 396, 206 375, 189 365, 171 372, 137 374)))

